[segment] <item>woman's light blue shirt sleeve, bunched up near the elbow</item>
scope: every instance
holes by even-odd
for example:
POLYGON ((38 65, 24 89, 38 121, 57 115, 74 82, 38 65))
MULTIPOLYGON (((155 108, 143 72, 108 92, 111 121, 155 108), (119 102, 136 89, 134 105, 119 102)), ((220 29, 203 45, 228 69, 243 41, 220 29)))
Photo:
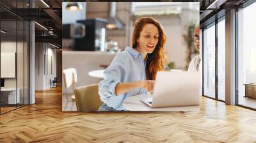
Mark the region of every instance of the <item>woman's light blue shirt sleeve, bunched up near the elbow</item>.
POLYGON ((99 94, 102 102, 107 103, 109 98, 116 96, 115 87, 116 84, 122 82, 124 72, 124 63, 120 58, 120 55, 118 55, 113 59, 108 68, 104 70, 104 80, 99 83, 99 94))

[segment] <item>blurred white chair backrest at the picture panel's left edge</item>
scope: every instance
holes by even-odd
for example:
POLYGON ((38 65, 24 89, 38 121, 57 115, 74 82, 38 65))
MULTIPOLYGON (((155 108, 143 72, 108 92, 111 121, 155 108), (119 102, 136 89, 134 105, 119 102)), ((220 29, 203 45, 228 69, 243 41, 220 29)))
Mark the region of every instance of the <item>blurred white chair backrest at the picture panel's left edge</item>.
POLYGON ((64 79, 64 86, 66 88, 70 86, 74 86, 74 84, 77 82, 76 69, 68 68, 66 70, 63 70, 63 79, 64 79))

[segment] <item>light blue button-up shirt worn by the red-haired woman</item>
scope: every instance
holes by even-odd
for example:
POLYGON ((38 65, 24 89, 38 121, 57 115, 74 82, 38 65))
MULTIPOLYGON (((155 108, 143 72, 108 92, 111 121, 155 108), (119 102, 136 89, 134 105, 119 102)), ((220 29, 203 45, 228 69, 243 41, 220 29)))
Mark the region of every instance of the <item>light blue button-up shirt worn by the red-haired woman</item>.
POLYGON ((116 95, 116 84, 146 80, 145 67, 146 63, 137 50, 127 47, 123 52, 120 52, 103 73, 104 80, 99 83, 100 100, 106 103, 108 107, 126 110, 123 107, 125 98, 147 93, 147 91, 143 88, 134 88, 125 94, 116 95))

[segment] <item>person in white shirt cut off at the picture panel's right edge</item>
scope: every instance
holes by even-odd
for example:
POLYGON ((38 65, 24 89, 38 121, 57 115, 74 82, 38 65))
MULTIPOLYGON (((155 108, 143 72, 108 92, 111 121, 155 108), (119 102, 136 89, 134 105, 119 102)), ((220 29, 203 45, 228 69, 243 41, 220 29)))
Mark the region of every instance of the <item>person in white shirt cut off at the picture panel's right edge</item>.
MULTIPOLYGON (((197 23, 195 26, 195 31, 194 31, 194 42, 195 42, 196 50, 198 50, 198 52, 200 51, 200 36, 199 35, 200 35, 200 24, 197 23)), ((188 66, 188 72, 201 71, 200 64, 201 64, 201 59, 200 59, 200 55, 198 54, 197 56, 193 57, 193 59, 190 61, 189 66, 188 66)))

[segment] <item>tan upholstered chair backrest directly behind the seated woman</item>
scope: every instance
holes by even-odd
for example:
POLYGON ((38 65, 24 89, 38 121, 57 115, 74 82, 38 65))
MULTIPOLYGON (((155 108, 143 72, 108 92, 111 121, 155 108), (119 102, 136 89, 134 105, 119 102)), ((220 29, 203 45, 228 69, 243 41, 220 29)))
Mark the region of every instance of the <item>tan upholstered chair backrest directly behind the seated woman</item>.
POLYGON ((99 96, 99 84, 90 84, 75 89, 77 111, 97 111, 102 105, 99 96))

